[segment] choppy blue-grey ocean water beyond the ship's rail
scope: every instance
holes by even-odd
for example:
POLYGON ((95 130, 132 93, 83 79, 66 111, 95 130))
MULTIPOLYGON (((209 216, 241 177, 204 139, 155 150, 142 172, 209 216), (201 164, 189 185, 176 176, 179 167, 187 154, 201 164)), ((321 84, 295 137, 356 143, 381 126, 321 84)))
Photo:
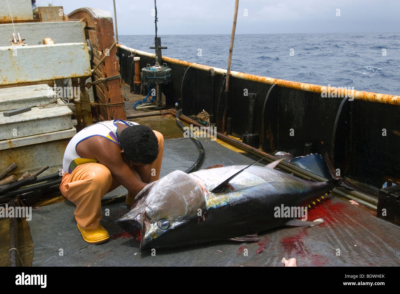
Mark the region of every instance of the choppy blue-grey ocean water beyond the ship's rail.
MULTIPOLYGON (((159 35, 163 55, 227 68, 230 35, 159 35)), ((120 35, 154 53, 154 36, 120 35)), ((333 87, 400 95, 400 33, 237 34, 231 70, 333 87)))

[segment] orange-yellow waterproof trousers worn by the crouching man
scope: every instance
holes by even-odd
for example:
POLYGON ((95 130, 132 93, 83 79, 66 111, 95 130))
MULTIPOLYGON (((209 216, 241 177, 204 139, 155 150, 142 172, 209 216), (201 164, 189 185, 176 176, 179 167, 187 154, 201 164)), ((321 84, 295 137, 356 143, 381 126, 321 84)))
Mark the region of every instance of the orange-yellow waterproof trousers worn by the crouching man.
MULTIPOLYGON (((154 182, 160 177, 162 156, 164 154, 164 137, 153 131, 158 139, 158 156, 150 165, 155 169, 154 182)), ((84 230, 95 230, 102 218, 101 200, 107 192, 111 192, 120 183, 113 178, 110 170, 100 163, 78 165, 70 174, 62 174, 61 194, 76 205, 74 212, 76 222, 84 230)), ((129 197, 129 195, 128 195, 129 197)))

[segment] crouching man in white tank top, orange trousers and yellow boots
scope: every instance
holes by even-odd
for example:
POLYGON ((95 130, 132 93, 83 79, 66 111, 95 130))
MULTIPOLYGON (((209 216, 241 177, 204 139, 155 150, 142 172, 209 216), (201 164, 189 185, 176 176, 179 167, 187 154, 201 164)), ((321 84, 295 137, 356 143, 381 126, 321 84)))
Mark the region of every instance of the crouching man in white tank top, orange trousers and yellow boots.
POLYGON ((164 137, 160 132, 125 120, 92 124, 68 143, 62 163, 62 195, 76 205, 83 239, 91 244, 110 238, 100 224, 101 199, 122 185, 126 204, 160 177, 164 137))

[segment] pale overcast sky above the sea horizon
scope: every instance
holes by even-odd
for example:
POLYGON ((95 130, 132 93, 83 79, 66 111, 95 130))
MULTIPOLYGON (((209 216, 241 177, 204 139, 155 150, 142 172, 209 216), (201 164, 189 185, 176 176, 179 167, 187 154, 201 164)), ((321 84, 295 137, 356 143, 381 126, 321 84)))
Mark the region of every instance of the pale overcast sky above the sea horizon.
MULTIPOLYGON (((112 0, 37 0, 108 10, 112 0)), ((234 0, 158 0, 158 34, 230 34, 234 0)), ((153 0, 116 0, 118 34, 154 34, 153 0)), ((240 0, 236 34, 399 32, 398 0, 240 0), (247 15, 245 15, 247 13, 247 15), (337 16, 340 14, 340 16, 337 16)))

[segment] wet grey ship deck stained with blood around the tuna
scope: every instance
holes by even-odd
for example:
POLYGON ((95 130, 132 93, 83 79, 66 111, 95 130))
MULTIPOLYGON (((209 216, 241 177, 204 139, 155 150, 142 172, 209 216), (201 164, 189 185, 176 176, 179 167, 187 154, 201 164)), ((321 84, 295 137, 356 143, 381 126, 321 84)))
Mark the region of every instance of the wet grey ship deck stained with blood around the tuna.
MULTIPOLYGON (((136 113, 132 106, 142 97, 130 94, 126 86, 122 94, 130 98, 126 103, 127 115, 136 113)), ((134 121, 164 134, 161 176, 177 169, 186 170, 197 159, 196 147, 189 138, 183 138, 173 116, 151 116, 134 121)), ((200 138, 200 141, 206 152, 202 168, 214 164, 251 164, 256 159, 219 140, 200 138)), ((119 187, 106 196, 124 192, 126 190, 119 187)), ((318 226, 281 227, 260 232, 260 241, 255 243, 227 240, 157 249, 154 256, 150 250, 139 252, 138 241, 115 223, 129 211, 125 202, 103 206, 103 214, 105 209, 110 213, 103 216, 102 225, 111 238, 104 244, 91 245, 82 239, 76 227, 74 204, 59 197, 50 205, 33 208, 32 220, 22 222, 20 251, 25 265, 33 266, 283 266, 284 257, 297 258, 298 266, 400 265, 399 226, 377 218, 375 211, 361 204, 351 204, 334 193, 317 203, 308 210, 308 220, 323 218, 325 222, 318 226)), ((0 222, 3 228, 5 222, 8 221, 0 222)), ((3 257, 8 255, 5 252, 8 242, 5 245, 0 252, 3 257)))

